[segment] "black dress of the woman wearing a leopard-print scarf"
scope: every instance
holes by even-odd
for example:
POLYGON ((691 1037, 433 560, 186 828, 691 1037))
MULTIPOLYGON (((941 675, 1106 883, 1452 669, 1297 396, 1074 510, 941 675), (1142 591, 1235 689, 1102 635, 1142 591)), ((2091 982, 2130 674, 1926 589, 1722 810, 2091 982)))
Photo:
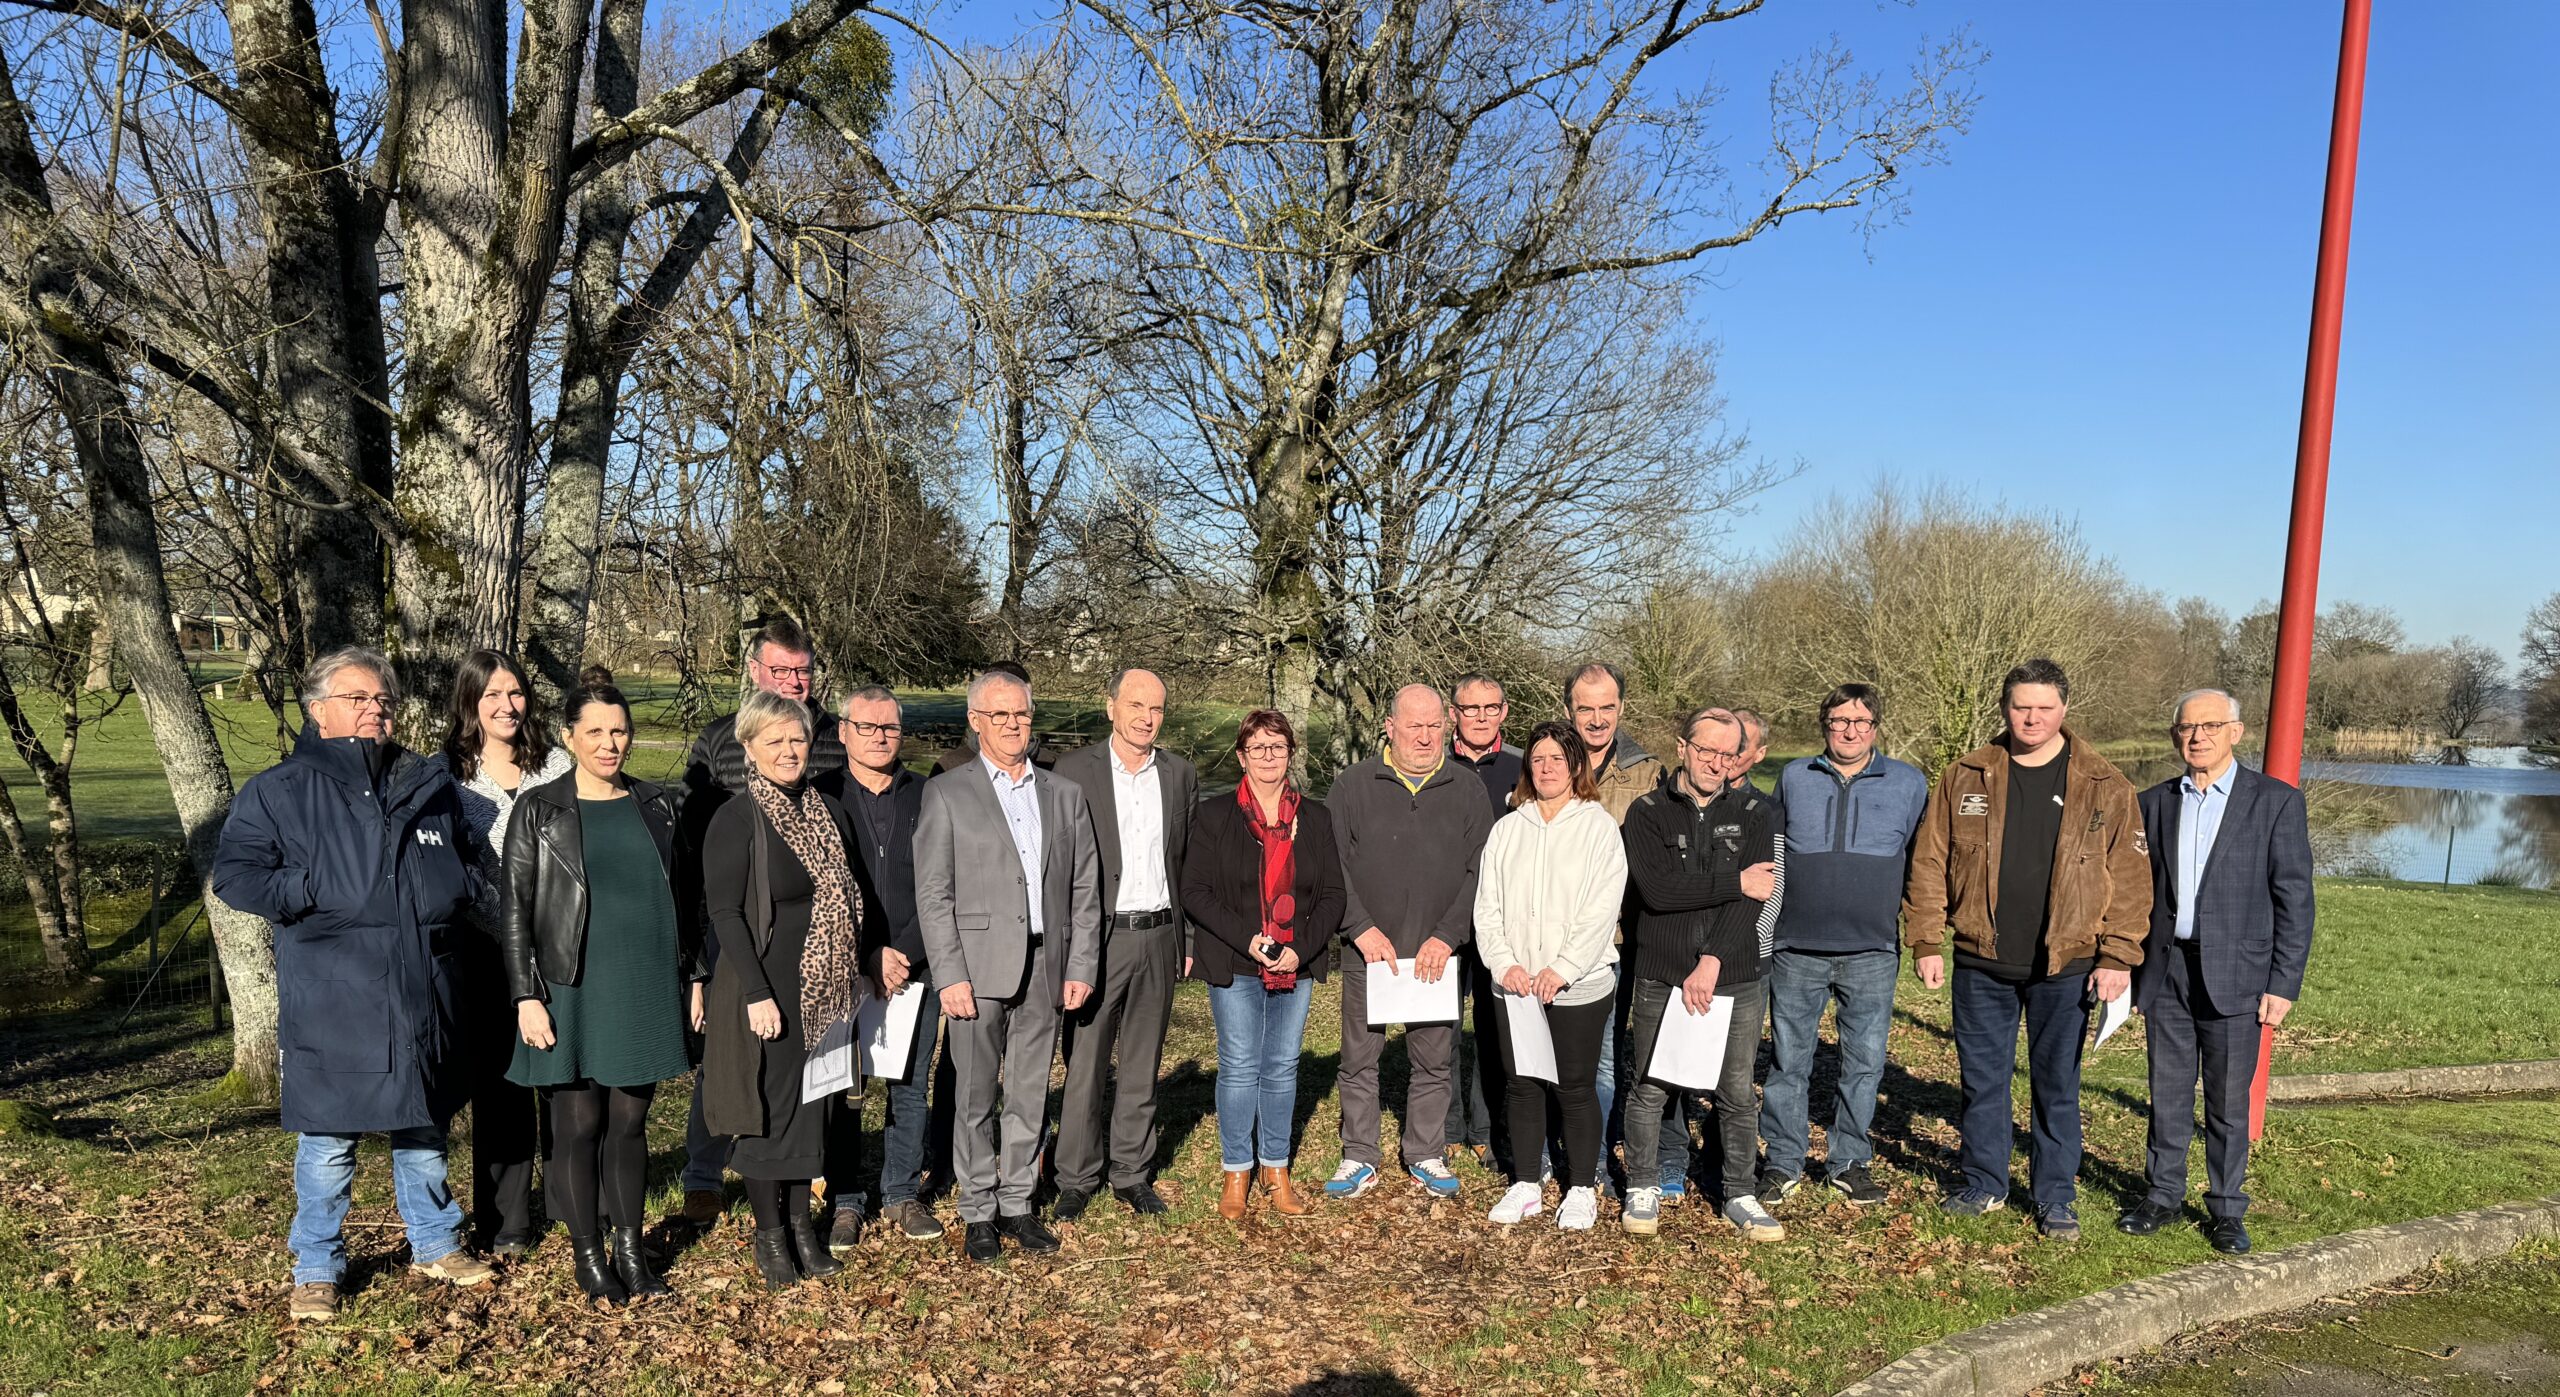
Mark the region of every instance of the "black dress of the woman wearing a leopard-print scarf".
MULTIPOLYGON (((835 1110, 835 1093, 819 1100, 801 1100, 801 947, 809 942, 809 898, 817 883, 801 865, 791 844, 771 832, 753 798, 735 798, 712 816, 701 842, 704 901, 712 908, 712 931, 719 936, 719 970, 714 977, 735 975, 735 985, 714 985, 714 998, 735 1006, 735 1021, 707 1023, 704 1090, 753 1090, 758 1100, 735 1103, 748 1108, 748 1118, 760 1118, 763 1131, 737 1131, 737 1149, 730 1167, 742 1180, 814 1180, 824 1172, 827 1116, 835 1110), (763 842, 765 883, 773 919, 763 949, 755 947, 755 929, 748 924, 748 872, 753 849, 763 842), (730 993, 722 993, 730 990, 730 993), (771 998, 783 1013, 783 1031, 776 1039, 755 1039, 745 1026, 745 1006, 771 998), (760 1057, 758 1069, 748 1069, 740 1057, 760 1057), (719 1069, 712 1057, 730 1059, 719 1069), (753 1082, 753 1085, 750 1085, 753 1082)), ((722 1013, 730 1018, 730 1013, 722 1013)), ((714 1110, 707 1103, 707 1110, 714 1110)), ((735 1116, 717 1110, 717 1116, 735 1116)), ((714 1126, 717 1131, 719 1126, 714 1126)))

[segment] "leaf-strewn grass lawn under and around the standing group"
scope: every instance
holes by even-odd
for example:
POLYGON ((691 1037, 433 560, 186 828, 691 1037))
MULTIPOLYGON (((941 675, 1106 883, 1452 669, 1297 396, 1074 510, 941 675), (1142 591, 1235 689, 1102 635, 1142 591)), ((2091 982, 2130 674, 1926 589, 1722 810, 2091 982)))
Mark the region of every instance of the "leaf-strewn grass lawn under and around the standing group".
MULTIPOLYGON (((2516 975, 2547 965, 2529 952, 2560 936, 2560 898, 2324 883, 2322 916, 2289 1069, 2560 1057, 2550 972, 2540 985, 2516 975), (2468 954, 2432 959, 2442 947, 2468 954)), ((1336 1159, 1339 1000, 1331 985, 1318 1000, 1303 1174, 1336 1159)), ((271 1113, 197 1100, 225 1062, 202 1013, 146 1011, 123 1031, 102 1011, 0 1026, 0 1095, 59 1121, 59 1139, 0 1136, 0 1389, 1828 1392, 1951 1330, 2209 1256, 2191 1228, 2135 1241, 2107 1226, 2140 1187, 2140 1044, 2127 1039, 2089 1062, 2086 1241, 2043 1243, 2015 1213, 1938 1215, 1953 1049, 1946 998, 1915 980, 1879 1110, 1887 1208, 1807 1192, 1782 1210, 1789 1241, 1764 1249, 1700 1205, 1672 1210, 1651 1243, 1615 1233, 1608 1208, 1595 1233, 1544 1220, 1505 1233, 1482 1220, 1500 1180, 1467 1164, 1454 1205, 1395 1180, 1300 1223, 1231 1228, 1211 1210, 1216 1052, 1193 985, 1165 1067, 1175 1215, 1160 1226, 1103 1203, 1062 1228, 1062 1256, 991 1269, 950 1243, 873 1236, 837 1282, 765 1297, 732 1218, 676 1256, 681 1300, 602 1313, 571 1300, 558 1233, 492 1290, 410 1279, 374 1149, 346 1323, 294 1333, 282 1318, 289 1136, 271 1113)), ((1400 1080, 1390 1046, 1390 1103, 1400 1080)), ((873 1126, 876 1110, 878 1095, 873 1126)), ((676 1203, 681 1133, 684 1093, 668 1087, 650 1131, 653 1210, 676 1203)), ((2281 1246, 2534 1197, 2552 1177, 2552 1100, 2278 1110, 2253 1169, 2253 1228, 2281 1246)))

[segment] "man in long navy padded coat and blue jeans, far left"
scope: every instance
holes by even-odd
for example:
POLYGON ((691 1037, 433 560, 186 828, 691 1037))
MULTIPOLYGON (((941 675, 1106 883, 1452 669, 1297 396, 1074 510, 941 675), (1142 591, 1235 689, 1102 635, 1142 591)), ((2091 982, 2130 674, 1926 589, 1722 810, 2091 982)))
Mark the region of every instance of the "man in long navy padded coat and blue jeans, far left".
POLYGON ((463 1210, 445 1185, 445 1123, 466 1082, 448 1069, 453 947, 479 890, 445 765, 392 742, 399 686, 374 650, 346 647, 302 678, 310 722, 241 788, 212 890, 276 929, 276 1046, 294 1151, 297 1320, 338 1313, 340 1226, 356 1139, 392 1136, 392 1195, 412 1269, 479 1284, 463 1210))

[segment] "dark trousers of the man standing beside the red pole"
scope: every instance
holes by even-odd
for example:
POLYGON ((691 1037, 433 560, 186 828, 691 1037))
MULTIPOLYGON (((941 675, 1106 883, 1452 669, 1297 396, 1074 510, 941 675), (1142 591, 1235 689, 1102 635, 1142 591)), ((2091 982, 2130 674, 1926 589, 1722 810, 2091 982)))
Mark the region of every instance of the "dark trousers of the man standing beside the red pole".
POLYGON ((2258 1006, 2217 1013, 2204 995, 2194 942, 2173 942, 2161 988, 2143 1006, 2150 1041, 2150 1200, 2186 1205, 2186 1146, 2196 1139, 2196 1080, 2204 1082, 2204 1210, 2248 1213, 2248 1087, 2258 1075, 2258 1006))

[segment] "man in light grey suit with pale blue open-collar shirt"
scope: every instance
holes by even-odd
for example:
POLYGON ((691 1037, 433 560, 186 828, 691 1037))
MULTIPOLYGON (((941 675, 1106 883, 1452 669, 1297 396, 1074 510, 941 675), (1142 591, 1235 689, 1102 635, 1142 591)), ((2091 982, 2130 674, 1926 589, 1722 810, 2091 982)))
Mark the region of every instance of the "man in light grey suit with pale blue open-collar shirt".
POLYGON ((968 727, 975 765, 924 785, 916 921, 950 1018, 965 1249, 993 1261, 998 1238, 1057 1251, 1032 1215, 1032 1187, 1057 1013, 1083 1008, 1101 970, 1101 860, 1083 793, 1029 762, 1032 686, 978 675, 968 727))

